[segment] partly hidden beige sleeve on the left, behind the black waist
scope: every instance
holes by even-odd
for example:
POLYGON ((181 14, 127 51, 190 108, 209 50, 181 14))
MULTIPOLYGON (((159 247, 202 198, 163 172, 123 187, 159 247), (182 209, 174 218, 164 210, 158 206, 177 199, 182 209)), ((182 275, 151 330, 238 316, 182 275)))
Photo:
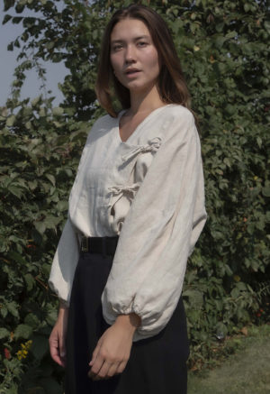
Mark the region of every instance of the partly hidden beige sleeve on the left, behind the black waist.
POLYGON ((69 305, 72 281, 79 256, 76 232, 70 219, 67 219, 58 243, 58 249, 52 261, 49 274, 49 288, 58 298, 69 305))

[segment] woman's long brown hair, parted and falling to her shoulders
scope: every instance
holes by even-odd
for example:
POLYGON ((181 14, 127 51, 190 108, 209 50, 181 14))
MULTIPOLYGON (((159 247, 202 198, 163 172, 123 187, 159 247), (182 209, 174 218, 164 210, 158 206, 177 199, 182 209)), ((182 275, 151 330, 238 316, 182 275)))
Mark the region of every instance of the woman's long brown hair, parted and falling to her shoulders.
POLYGON ((112 29, 116 23, 126 18, 138 19, 148 27, 162 65, 157 85, 162 101, 166 104, 181 104, 190 109, 190 95, 171 34, 162 17, 145 5, 129 5, 116 11, 105 29, 95 85, 100 104, 110 115, 117 116, 112 105, 113 86, 122 107, 130 107, 130 91, 114 76, 110 60, 112 29))

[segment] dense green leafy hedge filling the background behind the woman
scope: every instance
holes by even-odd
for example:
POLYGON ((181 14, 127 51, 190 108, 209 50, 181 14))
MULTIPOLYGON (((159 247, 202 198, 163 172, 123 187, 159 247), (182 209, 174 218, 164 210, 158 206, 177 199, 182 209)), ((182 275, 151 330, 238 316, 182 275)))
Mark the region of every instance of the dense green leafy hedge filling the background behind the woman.
MULTIPOLYGON (((190 366, 212 344, 269 319, 270 36, 266 1, 152 0, 173 33, 200 119, 208 223, 188 264, 184 301, 190 366), (269 227, 268 227, 269 228, 269 227)), ((103 27, 126 1, 4 0, 3 23, 23 23, 13 94, 0 108, 0 393, 60 393, 63 371, 49 357, 58 302, 50 263, 91 124, 103 114, 94 80, 103 27), (42 17, 23 17, 25 8, 42 17), (24 73, 65 61, 63 103, 20 98, 24 73)))

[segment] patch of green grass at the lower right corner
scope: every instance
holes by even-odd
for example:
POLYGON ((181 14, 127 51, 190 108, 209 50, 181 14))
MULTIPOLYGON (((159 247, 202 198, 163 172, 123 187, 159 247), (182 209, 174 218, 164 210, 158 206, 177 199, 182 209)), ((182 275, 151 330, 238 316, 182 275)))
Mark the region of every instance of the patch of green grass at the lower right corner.
POLYGON ((270 325, 252 326, 247 333, 237 338, 237 353, 219 367, 189 372, 188 394, 270 393, 270 325))

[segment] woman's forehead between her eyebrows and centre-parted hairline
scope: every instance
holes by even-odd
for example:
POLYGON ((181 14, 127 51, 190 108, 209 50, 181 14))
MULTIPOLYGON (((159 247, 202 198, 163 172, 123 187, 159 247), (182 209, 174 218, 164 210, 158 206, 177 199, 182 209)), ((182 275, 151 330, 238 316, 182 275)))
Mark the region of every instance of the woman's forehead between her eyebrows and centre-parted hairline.
POLYGON ((126 18, 114 25, 111 33, 111 41, 127 40, 140 36, 151 37, 147 25, 139 19, 126 18))

